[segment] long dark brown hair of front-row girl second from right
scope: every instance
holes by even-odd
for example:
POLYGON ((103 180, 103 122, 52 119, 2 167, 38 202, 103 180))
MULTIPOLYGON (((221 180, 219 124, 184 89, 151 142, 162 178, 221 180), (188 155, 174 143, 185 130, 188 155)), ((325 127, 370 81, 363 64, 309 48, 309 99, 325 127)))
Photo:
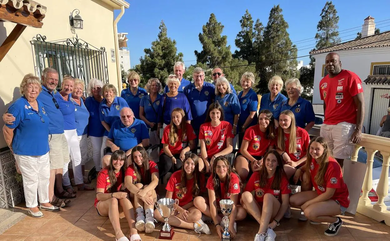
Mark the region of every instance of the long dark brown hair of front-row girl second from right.
POLYGON ((259 186, 260 187, 267 186, 267 181, 269 178, 268 178, 268 171, 266 168, 266 159, 267 159, 269 154, 274 154, 277 161, 278 161, 278 166, 276 167, 275 175, 273 176, 273 181, 271 184, 271 189, 280 190, 282 178, 285 177, 287 179, 287 177, 286 177, 286 173, 284 172, 282 157, 280 157, 279 153, 276 150, 269 150, 264 155, 262 168, 261 168, 261 170, 256 171, 257 172, 256 175, 257 175, 258 179, 260 180, 259 186))

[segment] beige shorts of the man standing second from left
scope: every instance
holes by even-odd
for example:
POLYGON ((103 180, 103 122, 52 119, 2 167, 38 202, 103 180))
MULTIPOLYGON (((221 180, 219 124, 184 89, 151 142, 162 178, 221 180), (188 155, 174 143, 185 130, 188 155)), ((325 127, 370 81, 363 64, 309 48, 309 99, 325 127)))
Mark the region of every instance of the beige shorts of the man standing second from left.
POLYGON ((65 134, 49 135, 49 146, 50 170, 63 169, 64 164, 70 161, 65 134))

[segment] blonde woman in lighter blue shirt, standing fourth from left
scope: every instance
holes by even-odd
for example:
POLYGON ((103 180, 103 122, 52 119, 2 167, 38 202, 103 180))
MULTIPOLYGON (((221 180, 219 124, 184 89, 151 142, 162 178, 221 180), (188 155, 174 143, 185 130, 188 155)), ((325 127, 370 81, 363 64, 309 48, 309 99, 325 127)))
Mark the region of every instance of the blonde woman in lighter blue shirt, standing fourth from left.
MULTIPOLYGON (((80 79, 74 80, 74 88, 72 92, 72 98, 74 100, 74 105, 76 107, 74 112, 74 117, 76 118, 76 132, 77 139, 79 141, 80 152, 81 152, 81 172, 83 173, 84 183, 90 183, 88 178, 85 176, 84 165, 87 162, 87 149, 88 149, 88 119, 89 111, 85 107, 84 100, 82 98, 84 93, 85 85, 84 82, 80 79)), ((70 172, 69 172, 70 173, 70 172)))

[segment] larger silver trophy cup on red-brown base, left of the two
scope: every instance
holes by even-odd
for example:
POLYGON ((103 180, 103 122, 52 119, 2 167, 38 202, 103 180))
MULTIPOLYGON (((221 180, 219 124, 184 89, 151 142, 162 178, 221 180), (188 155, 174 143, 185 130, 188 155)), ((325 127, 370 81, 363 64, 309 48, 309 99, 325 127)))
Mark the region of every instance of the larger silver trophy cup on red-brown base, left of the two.
POLYGON ((160 212, 161 216, 165 220, 165 224, 163 229, 160 230, 159 239, 169 239, 172 240, 175 232, 173 228, 168 224, 168 218, 173 214, 176 210, 174 209, 174 204, 179 204, 179 200, 173 200, 172 198, 161 198, 157 201, 156 208, 160 212))

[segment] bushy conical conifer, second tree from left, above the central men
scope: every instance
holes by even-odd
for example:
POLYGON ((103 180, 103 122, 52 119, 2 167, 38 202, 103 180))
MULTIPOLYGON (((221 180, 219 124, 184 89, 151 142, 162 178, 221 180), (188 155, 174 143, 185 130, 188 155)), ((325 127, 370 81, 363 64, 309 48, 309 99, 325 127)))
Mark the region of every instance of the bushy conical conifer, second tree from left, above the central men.
POLYGON ((215 15, 210 14, 209 21, 203 25, 203 33, 199 33, 202 51, 195 50, 197 62, 207 64, 210 68, 225 66, 232 59, 230 45, 227 46, 227 36, 222 36, 222 23, 218 23, 215 15))

